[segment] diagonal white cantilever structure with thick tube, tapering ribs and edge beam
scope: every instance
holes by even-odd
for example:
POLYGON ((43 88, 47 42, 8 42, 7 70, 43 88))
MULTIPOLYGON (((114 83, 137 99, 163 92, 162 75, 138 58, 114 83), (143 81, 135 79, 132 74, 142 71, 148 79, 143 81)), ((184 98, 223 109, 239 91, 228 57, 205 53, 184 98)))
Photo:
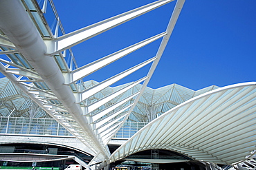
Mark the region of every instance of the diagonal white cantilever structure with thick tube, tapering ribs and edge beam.
POLYGON ((1 57, 0 70, 37 105, 95 153, 95 158, 90 164, 108 160, 110 153, 107 142, 127 120, 138 103, 170 39, 184 0, 176 1, 169 24, 162 33, 82 67, 77 66, 71 47, 172 1, 155 1, 68 34, 65 34, 62 28, 53 1, 49 3, 57 19, 54 32, 44 18, 48 1, 44 1, 42 8, 34 0, 0 1, 0 54, 7 56, 1 57), (92 83, 86 86, 83 83, 83 78, 89 74, 158 39, 161 39, 161 44, 154 57, 110 76, 98 84, 92 83), (71 59, 66 61, 68 58, 66 56, 71 56, 71 59), (135 79, 134 83, 116 92, 104 94, 103 98, 97 97, 109 85, 149 64, 151 67, 144 77, 135 79), (140 89, 129 96, 125 95, 140 83, 142 83, 140 89))

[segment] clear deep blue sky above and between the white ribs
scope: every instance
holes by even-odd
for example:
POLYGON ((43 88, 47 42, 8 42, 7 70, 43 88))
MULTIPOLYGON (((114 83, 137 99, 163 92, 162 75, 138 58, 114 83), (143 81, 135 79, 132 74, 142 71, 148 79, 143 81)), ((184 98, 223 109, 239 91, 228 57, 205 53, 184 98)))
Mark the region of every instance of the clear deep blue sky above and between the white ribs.
MULTIPOLYGON (((66 33, 116 14, 143 6, 152 0, 57 1, 55 7, 66 33)), ((165 31, 175 2, 119 25, 73 47, 79 66, 165 31)), ((256 1, 187 0, 149 87, 172 83, 190 89, 210 85, 223 87, 256 81, 256 1)), ((47 18, 46 18, 47 19, 47 18)), ((51 23, 49 23, 51 25, 51 23)), ((103 81, 156 54, 160 40, 88 76, 103 81)), ((115 85, 135 81, 148 67, 115 85), (135 78, 135 79, 134 79, 135 78)))

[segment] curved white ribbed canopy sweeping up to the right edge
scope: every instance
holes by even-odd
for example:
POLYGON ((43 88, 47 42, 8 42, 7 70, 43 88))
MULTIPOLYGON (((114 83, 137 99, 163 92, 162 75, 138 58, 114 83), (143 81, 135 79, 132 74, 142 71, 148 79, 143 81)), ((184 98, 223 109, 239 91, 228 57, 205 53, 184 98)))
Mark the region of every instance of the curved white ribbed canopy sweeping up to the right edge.
POLYGON ((256 149, 256 83, 241 83, 196 96, 140 129, 111 162, 147 149, 169 149, 194 160, 242 162, 256 149))

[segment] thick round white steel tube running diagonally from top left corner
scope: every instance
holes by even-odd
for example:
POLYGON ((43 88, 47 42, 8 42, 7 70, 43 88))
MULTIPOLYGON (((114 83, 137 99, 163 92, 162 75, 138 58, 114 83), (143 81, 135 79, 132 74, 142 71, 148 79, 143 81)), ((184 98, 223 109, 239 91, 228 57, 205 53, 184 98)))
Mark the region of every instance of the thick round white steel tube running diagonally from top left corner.
POLYGON ((17 50, 24 55, 37 73, 51 87, 55 96, 62 102, 68 112, 73 115, 74 120, 81 125, 84 133, 89 136, 87 142, 89 142, 95 153, 100 151, 108 158, 109 151, 102 147, 100 140, 96 138, 87 119, 82 116, 82 109, 80 105, 75 103, 73 92, 68 86, 64 85, 64 76, 62 76, 59 67, 51 56, 45 55, 46 45, 21 2, 1 1, 0 15, 1 30, 5 32, 10 41, 15 44, 17 50), (15 8, 15 11, 12 10, 13 8, 15 8))

